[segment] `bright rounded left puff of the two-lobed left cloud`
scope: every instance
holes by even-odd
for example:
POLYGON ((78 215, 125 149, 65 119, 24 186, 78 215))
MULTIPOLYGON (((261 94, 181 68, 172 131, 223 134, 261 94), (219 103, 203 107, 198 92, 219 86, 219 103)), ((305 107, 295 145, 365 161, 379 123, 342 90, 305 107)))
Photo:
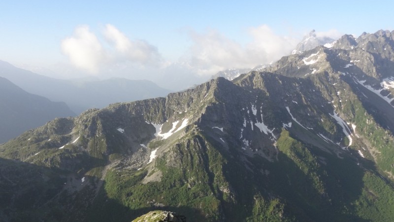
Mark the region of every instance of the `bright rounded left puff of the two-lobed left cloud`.
POLYGON ((72 65, 91 73, 99 71, 99 64, 105 58, 99 39, 89 31, 88 26, 77 27, 72 37, 62 40, 61 47, 72 65))

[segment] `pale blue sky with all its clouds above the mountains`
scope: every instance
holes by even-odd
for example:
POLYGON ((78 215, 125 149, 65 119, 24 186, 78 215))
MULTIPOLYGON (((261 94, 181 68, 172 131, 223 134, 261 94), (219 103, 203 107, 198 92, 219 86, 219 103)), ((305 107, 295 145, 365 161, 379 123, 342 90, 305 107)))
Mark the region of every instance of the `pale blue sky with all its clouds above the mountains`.
POLYGON ((312 29, 393 30, 389 0, 2 0, 0 60, 57 78, 148 79, 168 89, 289 54, 312 29))

